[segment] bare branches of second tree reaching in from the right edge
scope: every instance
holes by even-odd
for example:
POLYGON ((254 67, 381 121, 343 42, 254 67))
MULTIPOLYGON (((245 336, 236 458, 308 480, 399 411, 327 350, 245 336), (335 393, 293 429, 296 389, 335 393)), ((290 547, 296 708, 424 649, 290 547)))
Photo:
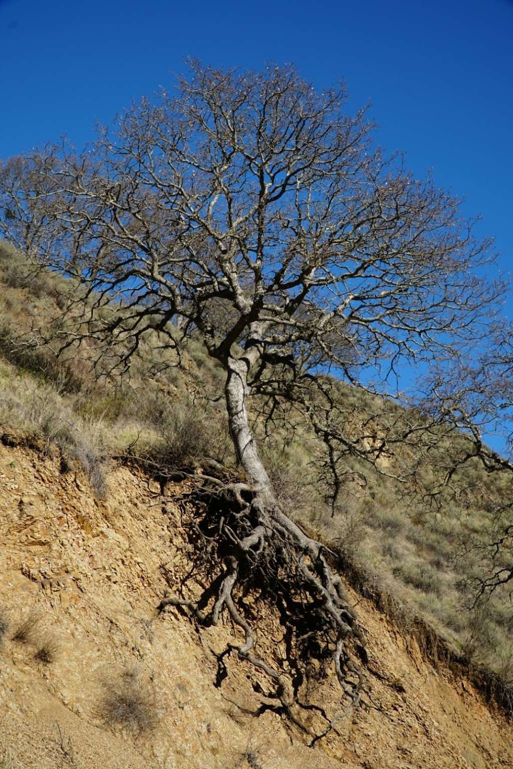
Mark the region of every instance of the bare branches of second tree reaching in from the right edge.
POLYGON ((497 478, 491 509, 481 510, 482 531, 470 532, 462 543, 462 558, 472 554, 479 568, 464 580, 472 608, 495 591, 513 598, 513 328, 504 321, 490 329, 488 344, 472 361, 453 361, 449 371, 434 369, 426 381, 423 406, 432 419, 465 435, 459 450, 454 445, 445 464, 442 493, 468 464, 497 478), (493 441, 495 448, 489 445, 493 441))

